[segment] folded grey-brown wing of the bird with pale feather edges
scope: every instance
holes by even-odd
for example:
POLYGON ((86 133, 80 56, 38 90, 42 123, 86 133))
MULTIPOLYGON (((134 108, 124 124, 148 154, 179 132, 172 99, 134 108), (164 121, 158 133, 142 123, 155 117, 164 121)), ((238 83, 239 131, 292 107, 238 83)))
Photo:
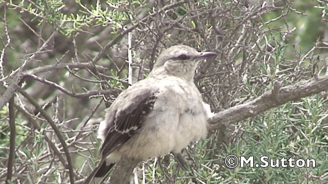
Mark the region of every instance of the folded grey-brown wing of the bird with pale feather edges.
POLYGON ((100 149, 103 158, 128 141, 142 126, 141 120, 152 111, 157 93, 155 87, 132 86, 117 97, 107 111, 109 117, 105 121, 109 121, 106 122, 108 131, 100 149))

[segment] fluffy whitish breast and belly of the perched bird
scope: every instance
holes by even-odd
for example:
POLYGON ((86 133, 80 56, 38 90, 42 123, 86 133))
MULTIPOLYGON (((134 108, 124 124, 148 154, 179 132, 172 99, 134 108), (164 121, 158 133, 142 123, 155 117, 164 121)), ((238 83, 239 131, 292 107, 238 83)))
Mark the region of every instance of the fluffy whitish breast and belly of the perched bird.
POLYGON ((157 95, 154 110, 142 127, 108 156, 107 164, 117 162, 121 155, 147 160, 171 151, 180 152, 191 142, 206 137, 206 111, 199 91, 193 83, 182 84, 158 84, 162 91, 157 95))

